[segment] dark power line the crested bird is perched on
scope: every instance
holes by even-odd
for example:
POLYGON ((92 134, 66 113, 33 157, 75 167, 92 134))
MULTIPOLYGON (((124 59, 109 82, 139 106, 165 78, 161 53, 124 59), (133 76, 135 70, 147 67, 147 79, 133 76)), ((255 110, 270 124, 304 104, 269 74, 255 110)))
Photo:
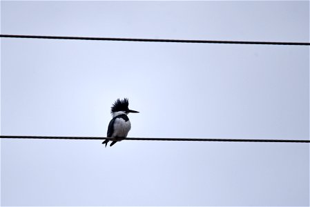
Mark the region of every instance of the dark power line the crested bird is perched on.
MULTIPOLYGON (((0 136, 1 139, 108 139, 110 141, 119 140, 110 137, 49 137, 49 136, 0 136)), ((122 140, 139 141, 235 141, 235 142, 291 142, 291 143, 310 143, 308 139, 200 139, 200 138, 138 138, 127 137, 122 140)))

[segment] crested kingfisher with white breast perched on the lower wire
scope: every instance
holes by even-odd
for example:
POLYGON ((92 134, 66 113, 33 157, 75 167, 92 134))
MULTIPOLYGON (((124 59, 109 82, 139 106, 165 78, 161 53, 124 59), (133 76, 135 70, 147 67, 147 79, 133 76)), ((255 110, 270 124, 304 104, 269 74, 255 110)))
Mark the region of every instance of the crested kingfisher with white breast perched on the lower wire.
MULTIPOLYGON (((113 106, 111 107, 111 114, 113 119, 111 119, 108 124, 108 132, 106 137, 119 138, 117 141, 122 141, 122 138, 127 137, 128 132, 131 128, 130 121, 127 117, 128 113, 138 113, 138 111, 130 110, 128 108, 128 99, 119 100, 117 99, 113 106)), ((110 146, 113 146, 117 141, 112 141, 110 146)), ((106 139, 102 144, 108 144, 108 139, 106 139)))

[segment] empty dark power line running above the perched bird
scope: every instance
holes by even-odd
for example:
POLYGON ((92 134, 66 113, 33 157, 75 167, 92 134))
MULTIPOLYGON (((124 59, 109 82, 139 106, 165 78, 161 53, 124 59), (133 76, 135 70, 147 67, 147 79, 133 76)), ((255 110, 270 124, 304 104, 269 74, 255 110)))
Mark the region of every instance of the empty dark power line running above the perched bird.
POLYGON ((217 41, 194 39, 141 39, 141 38, 112 38, 112 37, 69 37, 69 36, 41 36, 41 35, 16 35, 0 34, 0 37, 31 38, 31 39, 75 39, 97 41, 146 41, 146 42, 171 42, 171 43, 225 43, 225 44, 254 44, 254 45, 282 45, 282 46, 310 46, 308 42, 278 42, 278 41, 217 41))

